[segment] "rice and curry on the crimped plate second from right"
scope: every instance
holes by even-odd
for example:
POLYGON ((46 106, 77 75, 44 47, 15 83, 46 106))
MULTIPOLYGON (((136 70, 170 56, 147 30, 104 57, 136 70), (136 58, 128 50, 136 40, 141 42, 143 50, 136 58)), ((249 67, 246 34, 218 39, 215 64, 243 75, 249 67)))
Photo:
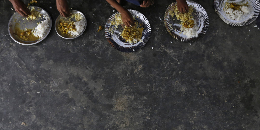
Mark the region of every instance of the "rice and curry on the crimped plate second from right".
POLYGON ((169 10, 169 14, 172 17, 175 16, 177 20, 180 20, 180 30, 183 32, 183 34, 186 35, 187 38, 198 36, 198 26, 196 24, 196 20, 192 16, 193 6, 189 6, 189 11, 185 14, 179 12, 177 4, 175 4, 172 8, 173 10, 169 10))

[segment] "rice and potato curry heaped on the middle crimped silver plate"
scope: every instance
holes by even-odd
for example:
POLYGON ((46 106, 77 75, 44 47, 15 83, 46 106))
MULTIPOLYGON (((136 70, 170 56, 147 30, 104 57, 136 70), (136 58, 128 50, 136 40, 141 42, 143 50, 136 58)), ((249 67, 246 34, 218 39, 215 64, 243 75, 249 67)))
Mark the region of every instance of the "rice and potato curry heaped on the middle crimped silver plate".
MULTIPOLYGON (((133 16, 133 19, 135 20, 135 17, 133 16)), ((118 28, 119 25, 123 25, 122 21, 122 15, 121 14, 116 14, 115 18, 111 21, 110 25, 114 25, 114 29, 118 28)), ((126 42, 128 42, 130 45, 136 44, 138 42, 144 42, 142 38, 142 32, 144 28, 142 27, 137 27, 137 25, 140 25, 138 22, 135 22, 134 26, 127 27, 124 26, 122 33, 120 32, 120 36, 122 36, 123 39, 125 39, 126 42)), ((113 29, 110 29, 110 33, 113 33, 113 29)))

